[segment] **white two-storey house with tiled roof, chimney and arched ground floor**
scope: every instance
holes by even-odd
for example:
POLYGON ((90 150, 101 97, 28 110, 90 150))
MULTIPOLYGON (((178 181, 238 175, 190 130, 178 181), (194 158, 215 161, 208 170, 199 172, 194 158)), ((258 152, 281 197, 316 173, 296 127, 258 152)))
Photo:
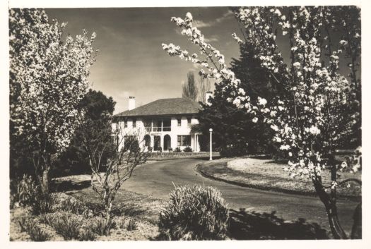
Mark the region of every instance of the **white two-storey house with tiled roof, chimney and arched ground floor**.
POLYGON ((199 123, 197 115, 200 104, 192 99, 158 99, 135 108, 135 98, 129 97, 129 109, 114 115, 112 129, 120 129, 117 141, 120 149, 125 136, 136 135, 143 150, 174 151, 191 147, 199 152, 199 135, 192 133, 191 127, 199 123))

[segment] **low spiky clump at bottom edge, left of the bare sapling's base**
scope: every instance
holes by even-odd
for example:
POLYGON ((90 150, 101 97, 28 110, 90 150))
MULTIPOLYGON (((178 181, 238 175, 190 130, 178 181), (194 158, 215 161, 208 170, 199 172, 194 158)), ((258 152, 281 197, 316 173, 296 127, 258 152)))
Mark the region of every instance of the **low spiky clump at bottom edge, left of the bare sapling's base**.
POLYGON ((69 212, 49 213, 43 215, 41 219, 67 240, 79 238, 79 230, 84 220, 81 215, 69 212))

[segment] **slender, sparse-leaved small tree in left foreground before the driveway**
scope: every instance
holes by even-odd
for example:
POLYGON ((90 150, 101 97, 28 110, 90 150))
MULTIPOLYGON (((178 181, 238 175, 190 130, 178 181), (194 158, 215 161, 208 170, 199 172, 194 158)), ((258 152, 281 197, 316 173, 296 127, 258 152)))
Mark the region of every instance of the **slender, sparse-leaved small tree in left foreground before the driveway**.
POLYGON ((110 116, 98 122, 103 123, 99 132, 92 130, 94 126, 86 125, 81 128, 78 138, 88 154, 91 186, 105 207, 105 227, 108 229, 104 232, 107 234, 112 224, 112 203, 117 191, 131 177, 134 168, 146 162, 148 152, 141 150, 144 141, 139 142, 139 135, 122 133, 121 126, 112 123, 110 116), (114 142, 124 146, 118 150, 114 142))

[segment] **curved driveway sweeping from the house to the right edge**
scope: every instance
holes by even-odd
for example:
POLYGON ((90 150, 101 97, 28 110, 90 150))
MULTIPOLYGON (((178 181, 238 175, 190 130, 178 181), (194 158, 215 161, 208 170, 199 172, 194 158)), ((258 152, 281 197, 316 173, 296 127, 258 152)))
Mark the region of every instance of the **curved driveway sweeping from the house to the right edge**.
MULTIPOLYGON (((135 169, 133 176, 124 183, 122 188, 165 199, 174 188, 173 183, 176 185, 204 184, 218 188, 232 209, 246 208, 248 211, 256 212, 276 211, 277 216, 283 219, 304 218, 328 228, 324 205, 319 198, 245 188, 204 178, 194 171, 194 166, 200 162, 204 161, 175 159, 143 164, 135 169)), ((338 201, 339 217, 346 231, 351 230, 353 210, 356 205, 356 202, 338 201)))

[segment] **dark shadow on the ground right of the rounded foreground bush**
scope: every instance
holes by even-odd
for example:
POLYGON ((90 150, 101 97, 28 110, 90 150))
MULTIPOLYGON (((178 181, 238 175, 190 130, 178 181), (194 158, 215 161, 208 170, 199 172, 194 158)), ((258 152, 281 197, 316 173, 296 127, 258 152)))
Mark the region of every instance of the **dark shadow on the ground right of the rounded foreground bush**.
POLYGON ((258 213, 230 209, 230 238, 236 240, 328 239, 329 234, 317 223, 305 219, 285 221, 276 212, 258 213))

